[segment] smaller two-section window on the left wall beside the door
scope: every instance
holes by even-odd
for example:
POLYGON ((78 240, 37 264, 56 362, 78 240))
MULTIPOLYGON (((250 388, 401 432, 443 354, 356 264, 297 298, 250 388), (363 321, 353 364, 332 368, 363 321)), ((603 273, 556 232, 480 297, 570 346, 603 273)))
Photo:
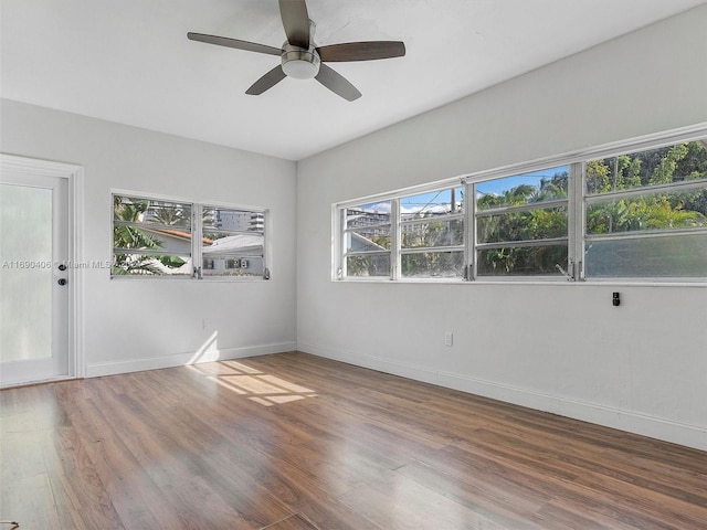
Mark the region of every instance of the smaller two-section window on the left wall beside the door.
POLYGON ((266 213, 114 193, 112 277, 268 278, 266 213))

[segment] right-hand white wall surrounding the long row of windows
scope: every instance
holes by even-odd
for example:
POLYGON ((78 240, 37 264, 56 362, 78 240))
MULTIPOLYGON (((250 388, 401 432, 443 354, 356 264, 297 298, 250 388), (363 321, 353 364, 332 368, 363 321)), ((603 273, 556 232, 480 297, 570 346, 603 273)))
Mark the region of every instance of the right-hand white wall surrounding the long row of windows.
POLYGON ((299 162, 298 348, 707 449, 705 286, 330 280, 334 202, 707 123, 706 26, 704 6, 299 162))

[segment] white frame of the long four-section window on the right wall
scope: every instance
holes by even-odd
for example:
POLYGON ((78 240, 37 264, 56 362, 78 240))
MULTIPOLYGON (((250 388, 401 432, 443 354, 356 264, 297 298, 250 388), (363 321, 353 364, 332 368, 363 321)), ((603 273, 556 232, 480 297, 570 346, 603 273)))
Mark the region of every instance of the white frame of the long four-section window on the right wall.
MULTIPOLYGON (((335 282, 400 282, 400 283, 597 283, 597 284, 686 284, 686 285, 699 285, 707 284, 707 277, 680 277, 680 276, 642 276, 642 277, 629 277, 629 276, 590 276, 585 275, 584 271, 584 248, 588 241, 598 239, 595 235, 587 234, 587 210, 588 204, 598 202, 600 200, 606 200, 610 194, 589 194, 587 191, 587 163, 597 159, 605 159, 612 157, 619 157, 623 155, 637 153, 645 150, 659 149, 669 147, 677 144, 703 141, 707 144, 707 123, 698 124, 695 126, 683 127, 671 131, 646 135, 643 137, 634 138, 631 140, 615 141, 611 144, 604 144, 602 146, 584 149, 581 151, 569 152, 555 157, 546 157, 529 162, 509 165, 500 168, 495 168, 486 171, 478 171, 475 173, 468 173, 461 177, 454 177, 451 179, 439 180, 435 182, 404 188, 401 190, 378 193, 374 195, 362 197, 355 200, 348 200, 344 202, 334 203, 331 205, 331 219, 333 219, 333 241, 331 246, 331 280, 335 282), (544 209, 553 208, 557 205, 567 205, 567 236, 558 239, 534 240, 530 242, 531 246, 547 244, 548 242, 562 242, 568 246, 568 269, 566 274, 560 274, 558 271, 557 276, 551 275, 508 275, 508 276, 478 276, 478 264, 476 263, 476 256, 478 255, 479 244, 477 243, 477 226, 476 221, 478 212, 476 209, 476 194, 475 186, 481 182, 487 182, 496 179, 503 179, 513 176, 523 176, 526 173, 541 171, 547 169, 553 169, 558 167, 567 166, 569 168, 568 174, 568 191, 567 200, 559 199, 547 201, 542 203, 524 204, 518 206, 505 206, 494 210, 493 213, 502 213, 509 211, 528 211, 530 209, 544 209), (401 277, 400 264, 402 250, 400 248, 401 239, 401 224, 403 221, 400 215, 400 200, 407 197, 421 194, 425 192, 433 192, 444 189, 455 189, 460 186, 464 187, 465 204, 464 204, 464 277, 401 277), (469 201, 469 198, 473 200, 469 201), (357 205, 365 205, 374 202, 390 201, 391 202, 391 274, 390 276, 347 276, 346 275, 346 242, 344 237, 342 227, 346 227, 346 209, 355 208, 357 205), (556 204, 557 203, 557 204, 556 204)), ((700 179, 697 181, 682 181, 669 184, 656 184, 654 187, 642 187, 625 191, 612 192, 611 195, 620 198, 645 195, 651 193, 657 193, 659 191, 680 191, 689 188, 701 188, 707 186, 707 180, 700 179)), ((489 211, 484 211, 481 216, 489 216, 489 211)), ((664 229, 657 230, 646 234, 636 235, 621 235, 612 234, 611 236, 603 237, 621 239, 621 237, 663 237, 666 235, 678 234, 701 234, 707 233, 707 226, 696 229, 664 229)), ((508 242, 508 246, 523 246, 517 245, 519 242, 508 242)), ((528 242, 523 242, 528 243, 528 242)), ((482 244, 483 246, 483 244, 482 244)), ((498 246, 489 245, 489 246, 498 246)), ((420 252, 434 251, 435 248, 424 248, 420 252)), ((442 251, 446 247, 442 248, 442 251)))

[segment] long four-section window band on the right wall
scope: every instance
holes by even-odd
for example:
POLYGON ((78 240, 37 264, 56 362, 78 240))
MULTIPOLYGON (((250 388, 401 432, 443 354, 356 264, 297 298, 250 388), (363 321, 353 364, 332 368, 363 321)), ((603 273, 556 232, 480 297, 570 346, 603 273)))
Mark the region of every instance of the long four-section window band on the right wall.
POLYGON ((707 139, 673 138, 335 204, 334 277, 707 280, 707 139))

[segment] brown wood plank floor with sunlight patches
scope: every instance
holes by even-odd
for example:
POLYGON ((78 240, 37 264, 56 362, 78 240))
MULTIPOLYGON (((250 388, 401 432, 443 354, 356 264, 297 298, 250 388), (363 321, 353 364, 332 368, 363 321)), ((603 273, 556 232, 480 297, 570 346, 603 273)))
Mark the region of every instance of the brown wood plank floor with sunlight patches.
POLYGON ((304 353, 6 390, 0 411, 21 530, 707 528, 707 453, 304 353))

